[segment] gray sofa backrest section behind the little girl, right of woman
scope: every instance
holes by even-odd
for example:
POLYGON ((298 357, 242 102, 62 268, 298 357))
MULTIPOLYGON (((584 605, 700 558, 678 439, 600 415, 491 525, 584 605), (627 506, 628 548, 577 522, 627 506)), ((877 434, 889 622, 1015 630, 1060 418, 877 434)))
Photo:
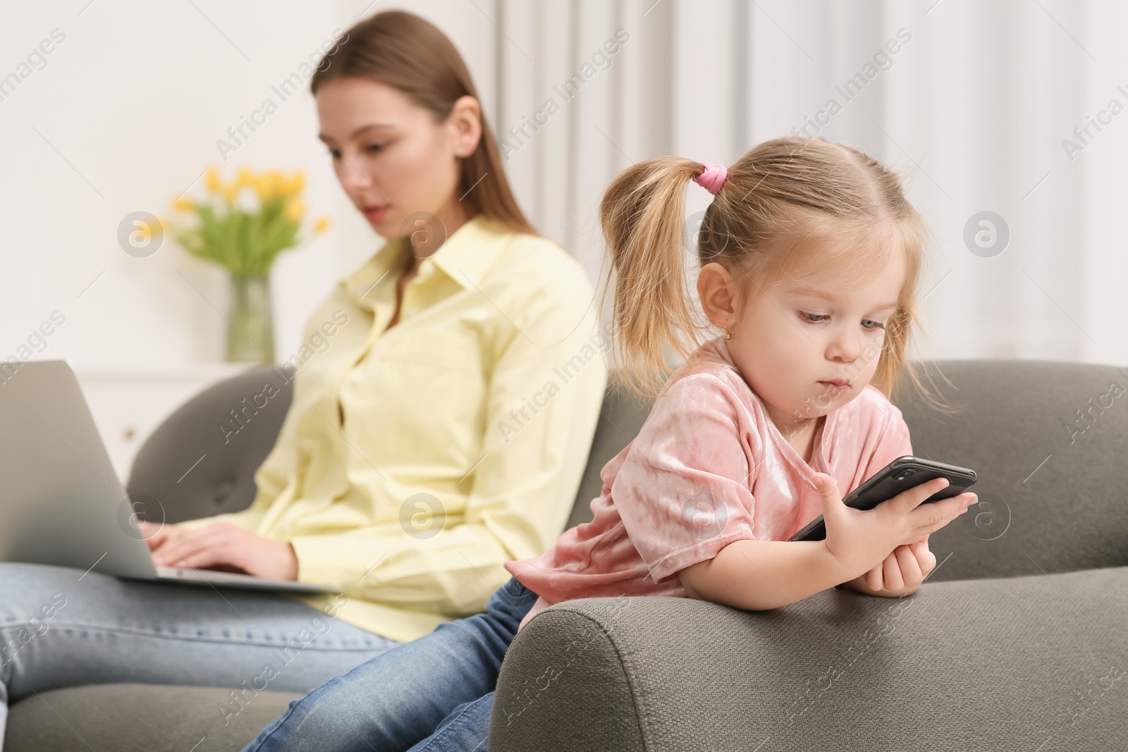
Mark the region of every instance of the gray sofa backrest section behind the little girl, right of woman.
MULTIPOLYGON (((929 581, 1128 564, 1128 369, 1016 360, 926 361, 945 416, 910 391, 898 404, 913 453, 976 470, 979 504, 933 533, 929 581), (1084 418, 1082 416, 1085 416, 1084 418)), ((591 520, 599 471, 638 433, 650 404, 615 384, 603 399, 569 527, 591 520)))

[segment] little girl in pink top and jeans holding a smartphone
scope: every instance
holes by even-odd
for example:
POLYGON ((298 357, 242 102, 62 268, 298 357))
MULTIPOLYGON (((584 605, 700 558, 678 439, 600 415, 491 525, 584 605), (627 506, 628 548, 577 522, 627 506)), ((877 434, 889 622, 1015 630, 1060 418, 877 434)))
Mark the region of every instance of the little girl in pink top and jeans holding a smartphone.
MULTIPOLYGON (((829 587, 911 593, 928 534, 975 503, 920 503, 936 479, 871 511, 841 503, 901 454, 884 392, 907 345, 928 230, 897 178, 848 147, 786 138, 725 169, 652 159, 600 207, 628 383, 658 392, 638 436, 602 469, 593 520, 513 577, 485 613, 439 625, 312 690, 250 750, 485 750, 505 651, 541 609, 578 598, 669 595, 774 609, 829 587), (685 289, 685 191, 714 194, 697 254, 698 344, 685 289), (685 360, 669 373, 667 356, 685 360), (827 537, 788 538, 819 514, 827 537)), ((926 393, 933 404, 943 407, 926 393)), ((473 561, 467 561, 473 566, 473 561)))

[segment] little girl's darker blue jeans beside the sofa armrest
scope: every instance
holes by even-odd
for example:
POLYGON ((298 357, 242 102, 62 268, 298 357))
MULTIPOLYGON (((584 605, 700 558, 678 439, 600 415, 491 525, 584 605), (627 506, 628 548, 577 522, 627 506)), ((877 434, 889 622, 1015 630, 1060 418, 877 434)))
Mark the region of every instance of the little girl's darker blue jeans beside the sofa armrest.
POLYGON ((486 752, 502 658, 537 594, 511 578, 448 621, 290 704, 243 752, 486 752))

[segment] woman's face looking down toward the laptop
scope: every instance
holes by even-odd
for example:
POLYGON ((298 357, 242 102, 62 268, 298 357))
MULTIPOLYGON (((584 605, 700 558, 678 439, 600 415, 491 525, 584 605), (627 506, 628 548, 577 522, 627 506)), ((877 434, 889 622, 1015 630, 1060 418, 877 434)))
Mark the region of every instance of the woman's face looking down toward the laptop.
POLYGON ((341 186, 378 233, 412 233, 420 212, 448 224, 465 221, 455 192, 459 160, 482 135, 474 97, 458 99, 437 123, 399 89, 345 77, 318 87, 317 114, 341 186))

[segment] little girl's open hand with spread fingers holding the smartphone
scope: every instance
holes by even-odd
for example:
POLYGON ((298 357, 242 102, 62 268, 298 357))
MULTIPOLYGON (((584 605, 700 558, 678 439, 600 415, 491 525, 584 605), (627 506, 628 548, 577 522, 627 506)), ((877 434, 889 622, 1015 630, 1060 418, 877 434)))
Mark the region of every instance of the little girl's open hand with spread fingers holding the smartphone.
POLYGON ((855 510, 843 504, 834 478, 816 472, 812 480, 822 496, 822 516, 827 525, 823 543, 844 575, 843 581, 869 576, 878 568, 882 570, 883 583, 884 561, 899 546, 926 540, 928 534, 962 514, 977 498, 971 492, 966 492, 924 504, 924 499, 948 486, 948 478, 933 478, 872 510, 855 510))

